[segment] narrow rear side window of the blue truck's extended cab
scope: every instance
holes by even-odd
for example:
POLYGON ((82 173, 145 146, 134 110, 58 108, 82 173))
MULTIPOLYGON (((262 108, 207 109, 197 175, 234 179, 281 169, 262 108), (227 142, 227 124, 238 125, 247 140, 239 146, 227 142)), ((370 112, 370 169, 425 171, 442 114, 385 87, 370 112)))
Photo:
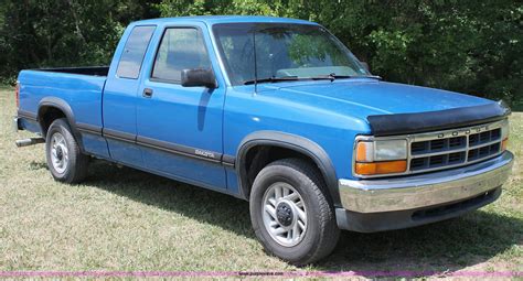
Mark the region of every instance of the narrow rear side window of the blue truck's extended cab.
POLYGON ((136 26, 127 39, 116 75, 136 79, 140 75, 141 63, 156 26, 136 26))

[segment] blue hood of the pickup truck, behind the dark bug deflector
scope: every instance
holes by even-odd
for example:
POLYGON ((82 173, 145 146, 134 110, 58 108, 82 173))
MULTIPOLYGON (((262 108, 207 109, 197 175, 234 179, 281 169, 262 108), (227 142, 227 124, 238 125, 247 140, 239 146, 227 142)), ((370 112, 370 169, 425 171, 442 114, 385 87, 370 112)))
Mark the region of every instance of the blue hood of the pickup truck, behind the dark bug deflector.
POLYGON ((274 90, 278 98, 362 119, 373 115, 439 111, 494 102, 448 90, 366 78, 262 85, 262 91, 274 90))

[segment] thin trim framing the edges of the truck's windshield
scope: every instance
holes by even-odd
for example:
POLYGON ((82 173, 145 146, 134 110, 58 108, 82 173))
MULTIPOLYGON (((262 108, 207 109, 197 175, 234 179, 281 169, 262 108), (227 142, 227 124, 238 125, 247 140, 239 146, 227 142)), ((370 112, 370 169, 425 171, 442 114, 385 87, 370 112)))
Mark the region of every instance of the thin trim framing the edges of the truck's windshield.
MULTIPOLYGON (((226 60, 225 57, 225 52, 223 50, 223 46, 221 44, 221 40, 217 35, 217 32, 216 32, 216 29, 218 26, 235 26, 235 25, 309 25, 309 26, 317 26, 319 29, 321 29, 323 32, 325 32, 330 39, 333 41, 333 43, 335 43, 340 48, 342 48, 351 58, 352 61, 357 65, 357 67, 360 67, 361 69, 363 69, 365 72, 364 75, 355 75, 355 76, 352 76, 352 77, 348 77, 348 78, 377 78, 377 79, 381 79, 380 76, 375 76, 375 75, 372 75, 362 64, 361 62, 357 60, 357 57, 350 51, 350 48, 348 46, 345 46, 345 44, 343 44, 343 42, 341 42, 334 34, 332 34, 328 29, 325 29, 324 26, 322 26, 321 24, 318 24, 316 22, 302 22, 302 23, 288 23, 288 22, 227 22, 227 23, 215 23, 215 24, 212 24, 210 31, 211 31, 211 34, 212 34, 212 40, 214 41, 214 46, 216 48, 216 55, 220 60, 220 64, 222 65, 223 67, 223 71, 225 73, 225 76, 228 80, 228 84, 231 86, 243 86, 243 85, 246 85, 245 84, 245 80, 244 82, 235 82, 233 75, 232 75, 232 69, 228 65, 228 61, 226 60)), ((278 78, 278 77, 275 77, 275 78, 278 78)), ((259 79, 268 79, 267 77, 264 77, 264 78, 259 78, 259 77, 256 77, 256 80, 259 80, 259 79)), ((345 79, 345 78, 343 78, 345 79)), ((299 80, 313 80, 311 77, 298 77, 297 79, 289 79, 289 80, 286 80, 286 82, 299 82, 299 80)), ((271 83, 271 82, 263 82, 263 83, 271 83)), ((257 84, 257 83, 256 83, 257 84)), ((247 84, 247 85, 252 85, 252 84, 247 84)))

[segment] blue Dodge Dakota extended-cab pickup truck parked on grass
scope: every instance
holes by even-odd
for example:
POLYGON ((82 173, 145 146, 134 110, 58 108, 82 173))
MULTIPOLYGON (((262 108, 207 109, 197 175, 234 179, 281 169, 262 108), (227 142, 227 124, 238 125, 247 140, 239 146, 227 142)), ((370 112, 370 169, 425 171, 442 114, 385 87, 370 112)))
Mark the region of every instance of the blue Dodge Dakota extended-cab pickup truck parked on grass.
POLYGON ((246 199, 265 249, 295 264, 340 229, 492 203, 513 160, 503 102, 384 82, 302 20, 134 22, 109 67, 22 71, 17 101, 15 128, 36 133, 17 144, 44 142, 55 180, 96 158, 246 199))

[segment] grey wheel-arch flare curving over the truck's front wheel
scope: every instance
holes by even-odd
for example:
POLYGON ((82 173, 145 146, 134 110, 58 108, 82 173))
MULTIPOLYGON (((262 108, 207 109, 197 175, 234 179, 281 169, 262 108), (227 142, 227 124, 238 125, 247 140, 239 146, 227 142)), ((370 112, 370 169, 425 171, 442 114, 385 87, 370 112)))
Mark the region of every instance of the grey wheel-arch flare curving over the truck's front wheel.
POLYGON ((235 163, 242 197, 248 201, 249 195, 247 169, 245 166, 246 155, 252 148, 257 145, 273 145, 290 149, 312 159, 323 175, 334 206, 340 206, 338 177, 335 175, 334 165, 327 152, 318 143, 309 139, 279 131, 257 131, 248 134, 242 140, 235 163))

